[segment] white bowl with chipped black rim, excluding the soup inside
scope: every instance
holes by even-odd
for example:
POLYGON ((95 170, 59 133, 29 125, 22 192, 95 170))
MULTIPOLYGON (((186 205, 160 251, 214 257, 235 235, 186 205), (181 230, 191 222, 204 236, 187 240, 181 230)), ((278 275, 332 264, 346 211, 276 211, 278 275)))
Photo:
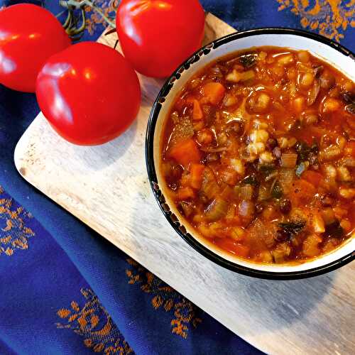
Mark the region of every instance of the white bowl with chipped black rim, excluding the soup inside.
POLYGON ((284 28, 263 28, 227 35, 199 50, 186 60, 165 82, 158 95, 148 122, 146 136, 146 163, 154 195, 163 214, 188 244, 210 260, 245 275, 271 279, 307 278, 339 268, 355 258, 355 238, 320 258, 291 265, 253 263, 217 249, 195 232, 168 198, 168 187, 160 174, 160 138, 165 119, 180 89, 205 65, 238 50, 273 45, 294 50, 308 50, 312 55, 329 62, 355 81, 355 57, 351 51, 332 40, 305 31, 284 28))

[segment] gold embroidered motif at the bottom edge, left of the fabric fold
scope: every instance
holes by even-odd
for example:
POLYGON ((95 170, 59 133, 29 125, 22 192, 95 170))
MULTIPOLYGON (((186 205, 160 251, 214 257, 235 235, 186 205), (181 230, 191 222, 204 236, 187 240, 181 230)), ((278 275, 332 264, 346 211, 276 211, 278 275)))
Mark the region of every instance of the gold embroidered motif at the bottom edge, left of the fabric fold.
POLYGON ((72 301, 70 307, 60 308, 57 315, 65 322, 55 323, 59 329, 72 329, 84 338, 84 345, 102 354, 133 354, 129 344, 123 339, 111 316, 104 309, 99 298, 90 289, 80 290, 84 296, 84 306, 72 301))

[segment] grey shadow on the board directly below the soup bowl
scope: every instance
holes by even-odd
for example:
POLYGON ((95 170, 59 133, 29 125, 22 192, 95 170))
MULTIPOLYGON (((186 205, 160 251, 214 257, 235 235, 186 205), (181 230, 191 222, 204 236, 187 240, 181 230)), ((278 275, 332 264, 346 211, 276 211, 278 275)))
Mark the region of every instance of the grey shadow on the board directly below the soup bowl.
MULTIPOLYGON (((224 271, 216 272, 226 280, 224 271)), ((235 283, 224 283, 234 293, 239 305, 253 309, 252 317, 267 320, 268 330, 290 327, 293 322, 305 322, 332 288, 336 272, 303 280, 261 280, 235 274, 235 283)))

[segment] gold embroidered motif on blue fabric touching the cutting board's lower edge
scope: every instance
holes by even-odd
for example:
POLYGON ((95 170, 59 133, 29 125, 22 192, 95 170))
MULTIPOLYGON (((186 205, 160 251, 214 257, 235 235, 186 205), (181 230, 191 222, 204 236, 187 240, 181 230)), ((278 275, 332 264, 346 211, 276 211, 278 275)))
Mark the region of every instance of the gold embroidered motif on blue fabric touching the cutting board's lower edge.
POLYGON ((173 312, 174 318, 170 324, 171 332, 186 339, 190 329, 196 328, 202 322, 197 313, 201 312, 192 302, 166 285, 160 278, 147 271, 132 259, 127 259, 131 268, 126 270, 129 284, 140 284, 141 290, 153 295, 151 300, 155 310, 163 309, 165 312, 173 312))

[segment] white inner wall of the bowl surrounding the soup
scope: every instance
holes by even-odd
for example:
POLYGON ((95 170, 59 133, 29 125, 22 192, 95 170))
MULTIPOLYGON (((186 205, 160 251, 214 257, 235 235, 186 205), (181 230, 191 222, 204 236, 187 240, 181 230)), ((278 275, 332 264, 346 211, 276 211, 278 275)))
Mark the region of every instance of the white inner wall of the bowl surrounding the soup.
MULTIPOLYGON (((173 88, 165 97, 165 102, 158 116, 154 134, 153 158, 155 162, 155 171, 158 177, 158 185, 160 187, 160 190, 163 192, 165 199, 168 199, 168 187, 165 185, 165 182, 160 174, 160 138, 162 136, 162 131, 164 127, 163 123, 165 122, 165 119, 170 111, 170 107, 173 104, 176 96, 180 92, 180 89, 184 87, 184 85, 187 83, 188 80, 190 80, 192 75, 194 75, 197 71, 201 70, 205 65, 209 64, 209 62, 212 62, 217 58, 223 57, 224 55, 234 53, 238 50, 245 50, 248 48, 259 47, 264 45, 272 45, 283 48, 290 48, 294 50, 308 50, 310 53, 312 53, 312 55, 315 55, 316 57, 326 62, 329 62, 330 65, 336 67, 351 80, 355 81, 354 59, 340 53, 338 50, 330 47, 327 44, 318 42, 317 40, 313 40, 311 38, 302 37, 300 35, 256 34, 251 35, 249 37, 238 38, 229 43, 221 45, 216 49, 213 48, 207 55, 202 55, 200 60, 193 63, 189 67, 189 69, 183 71, 179 80, 175 80, 173 88)), ((355 238, 351 238, 344 245, 339 247, 339 249, 336 249, 335 251, 332 251, 331 253, 326 254, 320 258, 316 258, 315 260, 307 261, 302 264, 272 265, 253 263, 251 261, 246 261, 242 258, 233 256, 214 247, 212 244, 209 243, 209 241, 197 234, 195 230, 189 226, 189 224, 181 216, 180 212, 178 212, 178 209, 175 207, 175 204, 173 202, 169 200, 167 200, 166 202, 170 207, 170 211, 173 212, 176 217, 178 217, 179 222, 183 226, 185 226, 187 232, 190 233, 195 239, 197 239, 200 244, 228 261, 237 263, 241 266, 245 266, 251 269, 274 273, 305 271, 313 268, 320 268, 329 263, 337 261, 339 258, 342 258, 343 256, 346 256, 355 250, 355 238)))

